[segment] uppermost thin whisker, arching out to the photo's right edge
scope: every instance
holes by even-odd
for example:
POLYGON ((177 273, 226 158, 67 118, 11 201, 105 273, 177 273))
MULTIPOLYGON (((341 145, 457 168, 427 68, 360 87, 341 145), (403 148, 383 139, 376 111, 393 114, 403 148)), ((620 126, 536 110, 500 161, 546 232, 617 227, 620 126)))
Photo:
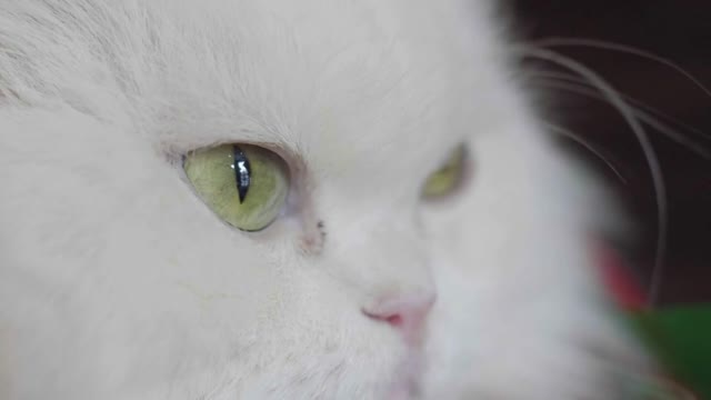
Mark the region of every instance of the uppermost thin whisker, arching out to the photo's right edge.
POLYGON ((588 48, 594 48, 594 49, 602 49, 602 50, 610 50, 610 51, 618 51, 618 52, 623 52, 623 53, 628 53, 628 54, 633 54, 633 56, 638 56, 638 57, 642 57, 645 58, 648 60, 652 60, 655 61, 660 64, 667 66, 671 69, 673 69, 674 71, 677 71, 678 73, 682 74, 684 78, 687 78, 688 80, 690 80, 691 82, 693 82, 699 89, 701 89, 701 91, 703 91, 707 96, 711 97, 711 89, 707 88, 701 80, 699 80, 697 77, 694 77, 693 74, 691 74, 690 72, 688 72, 687 70, 684 70, 681 66, 663 58, 660 56, 657 56, 652 52, 645 51, 645 50, 641 50, 631 46, 625 46, 625 44, 619 44, 619 43, 612 43, 612 42, 607 42, 603 40, 597 40, 597 39, 583 39, 583 38, 545 38, 545 39, 541 39, 541 40, 535 40, 535 41, 531 41, 530 42, 533 46, 537 46, 539 48, 551 48, 551 47, 588 47, 588 48))

